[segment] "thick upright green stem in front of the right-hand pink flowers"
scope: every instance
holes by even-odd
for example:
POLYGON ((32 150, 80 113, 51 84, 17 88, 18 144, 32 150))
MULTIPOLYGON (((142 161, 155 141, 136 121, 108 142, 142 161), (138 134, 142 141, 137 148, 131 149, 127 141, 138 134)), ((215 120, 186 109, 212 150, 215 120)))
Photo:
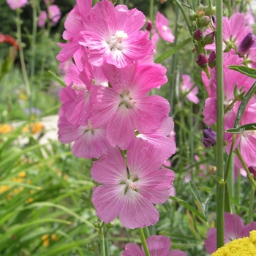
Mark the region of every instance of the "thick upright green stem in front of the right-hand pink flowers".
MULTIPOLYGON (((222 4, 217 1, 216 67, 217 67, 217 176, 224 179, 223 159, 223 53, 222 53, 222 4)), ((217 183, 217 248, 224 246, 225 183, 217 183)))

